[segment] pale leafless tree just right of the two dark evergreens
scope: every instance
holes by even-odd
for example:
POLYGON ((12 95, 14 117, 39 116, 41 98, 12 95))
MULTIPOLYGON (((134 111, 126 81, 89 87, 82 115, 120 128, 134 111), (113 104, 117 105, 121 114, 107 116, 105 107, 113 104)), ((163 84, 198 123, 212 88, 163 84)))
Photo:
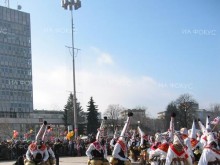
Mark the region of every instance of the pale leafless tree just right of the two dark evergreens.
POLYGON ((109 128, 111 130, 111 132, 114 134, 114 129, 117 125, 119 125, 119 117, 121 112, 124 110, 125 108, 118 105, 118 104, 111 104, 108 106, 108 108, 106 109, 106 111, 104 112, 104 116, 107 116, 108 118, 108 123, 109 123, 109 128))

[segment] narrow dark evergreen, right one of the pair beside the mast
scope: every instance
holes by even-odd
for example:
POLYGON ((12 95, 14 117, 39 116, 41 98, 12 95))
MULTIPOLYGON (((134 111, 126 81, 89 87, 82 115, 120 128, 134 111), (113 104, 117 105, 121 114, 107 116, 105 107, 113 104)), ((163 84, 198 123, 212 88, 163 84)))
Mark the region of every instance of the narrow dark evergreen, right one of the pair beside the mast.
POLYGON ((100 126, 99 120, 98 120, 98 109, 97 105, 95 105, 95 102, 93 101, 93 98, 90 98, 90 101, 88 102, 88 114, 87 114, 87 134, 96 134, 97 129, 100 126))

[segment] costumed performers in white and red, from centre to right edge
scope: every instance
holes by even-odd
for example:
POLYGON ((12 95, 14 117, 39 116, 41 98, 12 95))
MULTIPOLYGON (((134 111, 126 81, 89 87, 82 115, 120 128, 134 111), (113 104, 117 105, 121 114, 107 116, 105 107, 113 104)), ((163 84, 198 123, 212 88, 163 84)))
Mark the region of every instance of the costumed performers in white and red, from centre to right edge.
POLYGON ((88 165, 220 165, 219 134, 211 128, 220 124, 220 118, 209 121, 204 126, 200 120, 200 130, 196 129, 195 121, 192 128, 174 129, 175 114, 171 115, 170 127, 167 132, 157 132, 150 136, 138 126, 137 130, 128 131, 132 113, 128 114, 127 121, 120 133, 111 140, 112 154, 107 157, 106 128, 103 120, 96 140, 87 151, 88 165))

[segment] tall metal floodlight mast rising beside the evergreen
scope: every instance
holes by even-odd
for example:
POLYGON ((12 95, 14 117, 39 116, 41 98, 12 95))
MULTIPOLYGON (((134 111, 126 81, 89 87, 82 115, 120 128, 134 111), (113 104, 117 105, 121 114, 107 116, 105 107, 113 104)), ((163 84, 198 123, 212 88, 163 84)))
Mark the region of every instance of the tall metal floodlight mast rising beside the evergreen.
POLYGON ((76 83, 75 83, 75 60, 74 60, 74 37, 73 37, 73 8, 75 10, 81 7, 80 0, 61 0, 61 5, 64 9, 69 9, 71 12, 71 32, 72 32, 72 56, 73 56, 73 114, 74 114, 74 132, 75 138, 78 137, 78 123, 77 123, 77 107, 76 107, 76 83))

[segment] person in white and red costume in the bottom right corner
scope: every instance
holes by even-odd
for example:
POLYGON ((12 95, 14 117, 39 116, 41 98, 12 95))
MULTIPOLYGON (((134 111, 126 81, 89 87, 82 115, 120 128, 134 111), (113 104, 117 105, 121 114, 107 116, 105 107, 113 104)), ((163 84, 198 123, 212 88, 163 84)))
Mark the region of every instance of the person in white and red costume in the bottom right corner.
POLYGON ((220 151, 212 133, 207 135, 207 146, 204 147, 198 165, 220 164, 220 151))

